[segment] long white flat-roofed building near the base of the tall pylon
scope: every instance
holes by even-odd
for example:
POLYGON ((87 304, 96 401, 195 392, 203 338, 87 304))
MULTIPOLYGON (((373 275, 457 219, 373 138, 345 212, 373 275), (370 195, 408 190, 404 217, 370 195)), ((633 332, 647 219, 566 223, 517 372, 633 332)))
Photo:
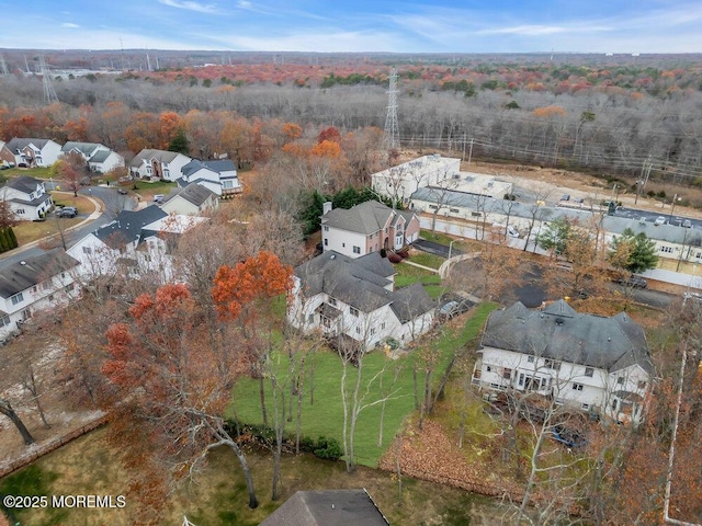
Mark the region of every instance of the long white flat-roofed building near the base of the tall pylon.
POLYGON ((373 190, 407 205, 412 192, 453 179, 461 170, 461 159, 431 155, 403 162, 371 175, 373 190))

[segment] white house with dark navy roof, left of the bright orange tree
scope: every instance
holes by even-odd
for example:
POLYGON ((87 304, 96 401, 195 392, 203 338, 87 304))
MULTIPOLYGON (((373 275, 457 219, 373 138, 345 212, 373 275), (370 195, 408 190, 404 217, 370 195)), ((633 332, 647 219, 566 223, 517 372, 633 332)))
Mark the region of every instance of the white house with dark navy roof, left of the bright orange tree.
POLYGON ((143 277, 150 273, 168 283, 176 279, 171 251, 184 231, 204 217, 169 215, 159 206, 123 210, 116 219, 83 237, 68 253, 80 261, 86 281, 124 273, 143 277))

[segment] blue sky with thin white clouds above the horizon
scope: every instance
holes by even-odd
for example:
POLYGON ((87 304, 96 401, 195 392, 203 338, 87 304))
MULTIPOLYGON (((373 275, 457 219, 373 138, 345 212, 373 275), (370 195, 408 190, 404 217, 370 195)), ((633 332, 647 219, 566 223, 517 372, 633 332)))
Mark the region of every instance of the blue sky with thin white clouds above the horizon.
POLYGON ((0 0, 0 48, 702 53, 700 0, 0 0))

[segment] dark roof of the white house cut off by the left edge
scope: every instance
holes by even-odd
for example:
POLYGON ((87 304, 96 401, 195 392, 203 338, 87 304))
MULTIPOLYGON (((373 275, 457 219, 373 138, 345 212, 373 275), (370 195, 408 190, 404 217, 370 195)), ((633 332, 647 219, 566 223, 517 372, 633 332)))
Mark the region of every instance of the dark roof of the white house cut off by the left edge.
POLYGON ((0 270, 0 297, 9 298, 76 265, 78 261, 63 249, 13 263, 0 270))

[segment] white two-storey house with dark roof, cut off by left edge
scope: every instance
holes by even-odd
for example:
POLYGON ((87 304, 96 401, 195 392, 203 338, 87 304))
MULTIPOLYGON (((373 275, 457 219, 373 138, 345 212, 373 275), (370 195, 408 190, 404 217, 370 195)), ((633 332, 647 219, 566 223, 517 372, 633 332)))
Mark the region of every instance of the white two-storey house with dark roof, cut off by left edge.
POLYGON ((16 333, 37 311, 78 297, 78 265, 63 249, 54 249, 0 268, 0 340, 16 333))

